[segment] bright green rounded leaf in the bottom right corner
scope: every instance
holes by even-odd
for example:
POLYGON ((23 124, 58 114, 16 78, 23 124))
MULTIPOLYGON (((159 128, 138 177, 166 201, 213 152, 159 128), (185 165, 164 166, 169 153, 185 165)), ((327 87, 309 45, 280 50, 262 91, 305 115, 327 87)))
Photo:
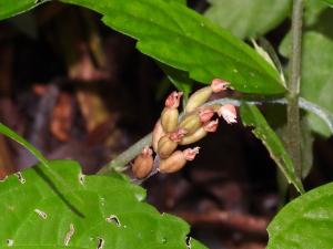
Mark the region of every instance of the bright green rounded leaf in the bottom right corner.
POLYGON ((268 249, 332 249, 333 184, 315 188, 286 205, 268 230, 268 249))

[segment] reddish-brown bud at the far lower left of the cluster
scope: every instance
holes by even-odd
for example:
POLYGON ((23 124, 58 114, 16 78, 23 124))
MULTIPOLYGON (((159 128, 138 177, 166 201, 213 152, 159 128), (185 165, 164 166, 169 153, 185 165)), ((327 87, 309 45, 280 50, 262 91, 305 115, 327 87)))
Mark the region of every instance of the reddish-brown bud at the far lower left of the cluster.
POLYGON ((132 172, 139 179, 145 178, 152 170, 153 157, 152 149, 144 147, 142 153, 137 156, 132 165, 132 172))

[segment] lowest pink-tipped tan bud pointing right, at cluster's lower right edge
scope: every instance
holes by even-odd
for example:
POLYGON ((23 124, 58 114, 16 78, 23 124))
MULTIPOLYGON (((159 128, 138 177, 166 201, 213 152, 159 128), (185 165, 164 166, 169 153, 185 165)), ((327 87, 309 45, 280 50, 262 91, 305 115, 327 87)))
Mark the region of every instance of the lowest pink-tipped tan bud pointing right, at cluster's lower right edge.
POLYGON ((176 151, 169 158, 160 160, 159 170, 161 173, 174 173, 183 168, 188 160, 193 160, 199 153, 199 147, 176 151))

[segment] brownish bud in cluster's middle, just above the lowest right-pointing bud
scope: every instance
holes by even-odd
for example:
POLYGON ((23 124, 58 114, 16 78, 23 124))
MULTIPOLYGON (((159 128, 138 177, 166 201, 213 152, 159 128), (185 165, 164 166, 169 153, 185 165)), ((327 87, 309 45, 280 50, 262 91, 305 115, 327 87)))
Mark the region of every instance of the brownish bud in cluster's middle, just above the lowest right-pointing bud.
POLYGON ((162 136, 158 144, 159 156, 162 159, 168 158, 175 151, 178 143, 181 142, 184 134, 184 129, 178 129, 176 132, 162 136))

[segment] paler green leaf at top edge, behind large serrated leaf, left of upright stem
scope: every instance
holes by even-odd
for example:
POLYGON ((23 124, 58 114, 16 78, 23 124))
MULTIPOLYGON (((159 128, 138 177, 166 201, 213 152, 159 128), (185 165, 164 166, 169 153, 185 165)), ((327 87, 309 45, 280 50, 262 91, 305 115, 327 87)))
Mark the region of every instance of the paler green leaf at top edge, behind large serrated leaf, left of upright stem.
POLYGON ((209 0, 205 17, 241 39, 256 38, 279 25, 291 10, 290 0, 209 0))

